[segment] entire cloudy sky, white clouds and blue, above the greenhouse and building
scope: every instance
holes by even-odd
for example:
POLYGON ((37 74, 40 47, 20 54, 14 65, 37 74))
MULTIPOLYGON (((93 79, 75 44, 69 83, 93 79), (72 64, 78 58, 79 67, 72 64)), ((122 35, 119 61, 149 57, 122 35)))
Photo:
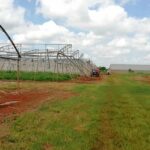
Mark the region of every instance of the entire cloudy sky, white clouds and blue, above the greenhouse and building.
POLYGON ((0 0, 0 24, 17 43, 71 43, 97 65, 150 64, 150 0, 0 0))

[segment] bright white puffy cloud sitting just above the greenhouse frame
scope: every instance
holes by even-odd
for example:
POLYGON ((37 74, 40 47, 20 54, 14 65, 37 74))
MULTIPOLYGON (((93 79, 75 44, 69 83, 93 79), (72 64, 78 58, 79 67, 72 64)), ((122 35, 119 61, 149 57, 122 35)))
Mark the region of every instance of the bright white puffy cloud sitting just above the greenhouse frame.
POLYGON ((57 41, 62 41, 65 34, 68 34, 68 30, 65 27, 56 25, 53 21, 45 22, 41 25, 30 25, 26 33, 14 35, 14 40, 17 43, 21 42, 49 42, 52 39, 57 41))

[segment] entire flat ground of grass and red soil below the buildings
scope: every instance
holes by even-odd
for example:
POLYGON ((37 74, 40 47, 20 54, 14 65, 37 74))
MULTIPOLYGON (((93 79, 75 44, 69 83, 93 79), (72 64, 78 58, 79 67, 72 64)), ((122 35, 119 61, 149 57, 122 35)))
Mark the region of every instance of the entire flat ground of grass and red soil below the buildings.
POLYGON ((0 81, 0 105, 2 150, 150 149, 148 74, 0 81))

